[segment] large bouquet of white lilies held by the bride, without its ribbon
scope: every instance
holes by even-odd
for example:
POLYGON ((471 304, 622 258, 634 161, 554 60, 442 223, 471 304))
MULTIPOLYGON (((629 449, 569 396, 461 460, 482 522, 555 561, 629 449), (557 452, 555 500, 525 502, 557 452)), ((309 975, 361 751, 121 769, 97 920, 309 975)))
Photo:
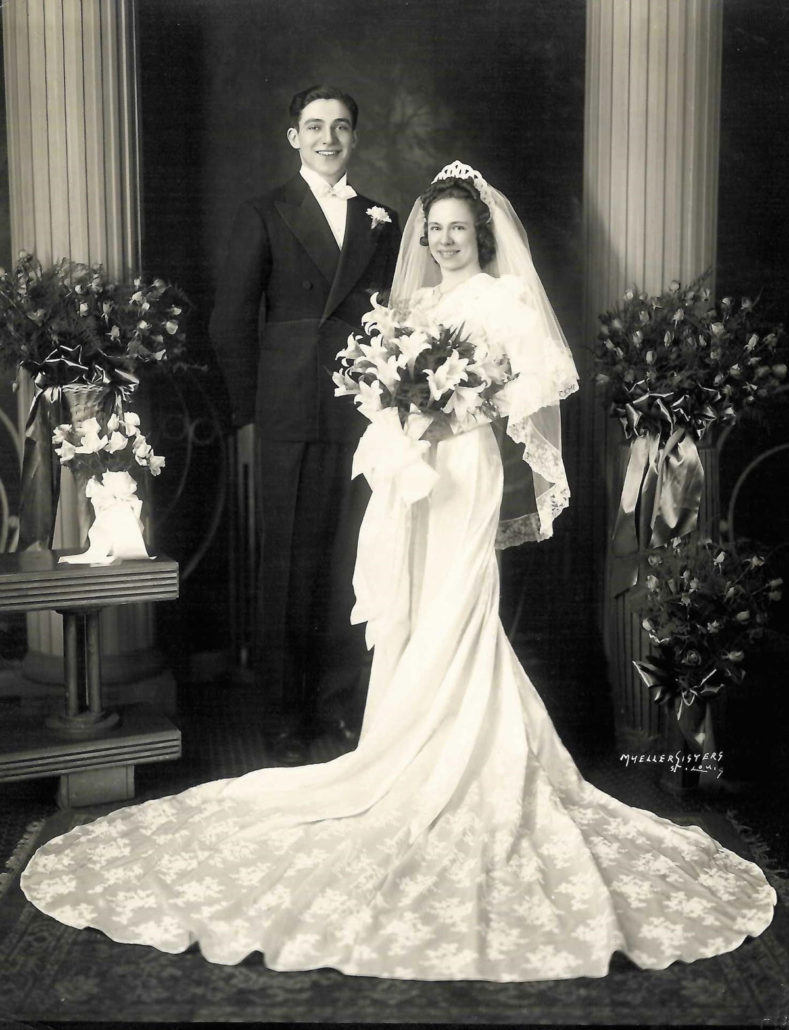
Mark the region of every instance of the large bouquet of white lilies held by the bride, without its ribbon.
POLYGON ((408 325, 378 304, 377 294, 372 303, 362 319, 364 333, 351 333, 337 355, 336 397, 352 397, 371 420, 393 408, 403 426, 410 415, 421 414, 446 422, 453 433, 498 416, 495 394, 514 378, 506 356, 491 355, 462 328, 408 325))

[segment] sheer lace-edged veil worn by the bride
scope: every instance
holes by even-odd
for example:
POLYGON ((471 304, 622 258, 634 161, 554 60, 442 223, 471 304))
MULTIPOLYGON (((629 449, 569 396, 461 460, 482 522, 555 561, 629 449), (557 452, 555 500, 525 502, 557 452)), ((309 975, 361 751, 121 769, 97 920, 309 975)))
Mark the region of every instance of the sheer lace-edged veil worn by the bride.
MULTIPOLYGON (((478 171, 455 161, 434 179, 471 180, 491 215, 495 258, 484 269, 489 275, 515 276, 536 318, 524 319, 508 334, 506 347, 518 377, 502 394, 507 412, 494 426, 504 466, 504 493, 496 547, 552 536, 553 520, 570 502, 561 459, 559 401, 578 389, 578 373, 550 301, 537 274, 528 237, 514 208, 478 171), (527 324, 527 328, 526 328, 527 324)), ((430 250, 420 244, 424 233, 421 198, 417 198, 403 231, 390 304, 407 318, 412 298, 423 286, 439 283, 440 273, 430 250)))

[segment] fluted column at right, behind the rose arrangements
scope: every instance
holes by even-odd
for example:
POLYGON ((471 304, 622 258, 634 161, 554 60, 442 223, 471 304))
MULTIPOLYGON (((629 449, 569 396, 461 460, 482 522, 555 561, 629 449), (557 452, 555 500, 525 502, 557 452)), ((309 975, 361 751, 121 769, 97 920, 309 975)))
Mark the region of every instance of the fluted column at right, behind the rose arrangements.
MULTIPOLYGON (((588 340, 596 335, 598 313, 633 283, 658 293, 714 265, 721 43, 721 0, 587 0, 588 340)), ((651 733, 654 706, 629 665, 645 642, 625 602, 608 595, 602 557, 619 501, 621 427, 607 417, 593 388, 583 403, 590 545, 619 728, 651 733)))

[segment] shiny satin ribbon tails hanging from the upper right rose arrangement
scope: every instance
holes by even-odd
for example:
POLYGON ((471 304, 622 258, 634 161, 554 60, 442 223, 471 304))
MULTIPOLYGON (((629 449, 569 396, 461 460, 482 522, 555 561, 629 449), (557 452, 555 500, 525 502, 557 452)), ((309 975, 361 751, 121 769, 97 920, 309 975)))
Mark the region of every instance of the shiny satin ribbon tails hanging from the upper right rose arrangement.
POLYGON ((636 436, 619 501, 612 551, 616 563, 612 590, 618 595, 639 581, 639 559, 695 528, 705 473, 693 431, 672 427, 661 442, 657 432, 636 436))

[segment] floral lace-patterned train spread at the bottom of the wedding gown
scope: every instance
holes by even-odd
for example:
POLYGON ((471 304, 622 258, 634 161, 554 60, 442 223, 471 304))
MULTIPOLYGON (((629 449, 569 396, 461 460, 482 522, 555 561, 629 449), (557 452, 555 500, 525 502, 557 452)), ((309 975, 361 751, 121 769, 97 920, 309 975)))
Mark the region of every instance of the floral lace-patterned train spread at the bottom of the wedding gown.
POLYGON ((277 969, 428 980, 602 976, 616 949, 659 969, 728 951, 771 919, 755 866, 573 769, 555 786, 534 763, 494 804, 474 783, 416 840, 412 816, 381 805, 352 838, 346 820, 250 836, 248 812, 197 789, 50 845, 36 899, 72 926, 100 906, 115 940, 164 952, 199 939, 214 962, 262 951, 277 969), (77 888, 83 854, 94 876, 77 888))

